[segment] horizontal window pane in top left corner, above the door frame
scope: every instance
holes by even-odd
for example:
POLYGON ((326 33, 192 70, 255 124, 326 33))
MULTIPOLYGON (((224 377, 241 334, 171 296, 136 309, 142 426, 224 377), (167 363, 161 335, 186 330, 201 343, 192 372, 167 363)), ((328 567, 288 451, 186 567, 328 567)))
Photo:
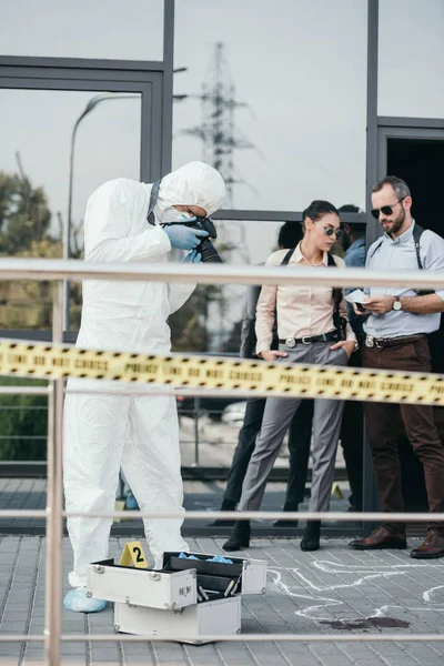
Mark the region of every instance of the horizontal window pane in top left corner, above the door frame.
POLYGON ((3 56, 162 60, 163 0, 3 0, 3 56))

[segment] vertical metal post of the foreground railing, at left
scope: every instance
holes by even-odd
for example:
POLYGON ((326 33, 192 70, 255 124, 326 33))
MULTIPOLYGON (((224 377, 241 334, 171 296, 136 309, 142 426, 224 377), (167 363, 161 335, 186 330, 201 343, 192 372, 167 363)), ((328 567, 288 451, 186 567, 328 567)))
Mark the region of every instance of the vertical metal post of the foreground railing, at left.
MULTIPOLYGON (((63 342, 63 282, 54 284, 52 341, 63 342)), ((47 557, 44 663, 60 664, 62 596, 62 425, 63 380, 51 381, 48 405, 47 557)))

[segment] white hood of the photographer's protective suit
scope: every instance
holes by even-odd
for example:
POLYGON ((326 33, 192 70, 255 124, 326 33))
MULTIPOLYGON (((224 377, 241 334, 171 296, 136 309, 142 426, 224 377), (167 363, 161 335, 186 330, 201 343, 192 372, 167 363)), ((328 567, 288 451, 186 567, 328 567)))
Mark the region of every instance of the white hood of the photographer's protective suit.
POLYGON ((154 212, 160 220, 173 205, 199 205, 211 215, 221 208, 224 195, 219 171, 204 162, 189 162, 162 178, 154 212))

